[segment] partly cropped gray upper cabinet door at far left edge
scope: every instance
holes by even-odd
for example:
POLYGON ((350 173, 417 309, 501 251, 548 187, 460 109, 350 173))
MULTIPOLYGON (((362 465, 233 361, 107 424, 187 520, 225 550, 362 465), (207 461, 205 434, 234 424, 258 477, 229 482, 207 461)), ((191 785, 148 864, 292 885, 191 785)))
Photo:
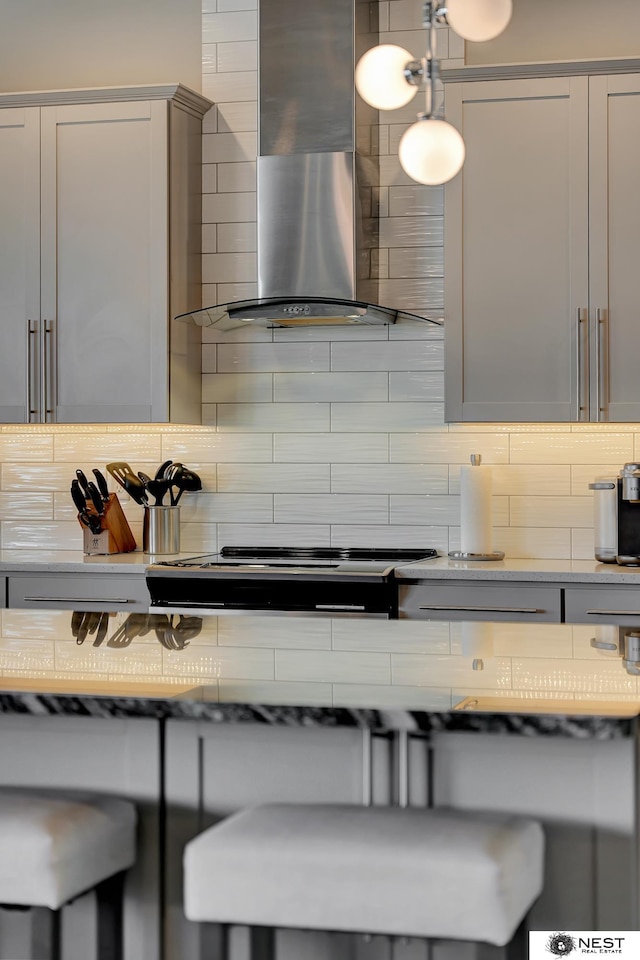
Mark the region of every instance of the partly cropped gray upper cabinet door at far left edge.
POLYGON ((40 317, 40 111, 0 111, 0 422, 28 423, 35 391, 40 317), (30 396, 31 393, 31 396, 30 396))

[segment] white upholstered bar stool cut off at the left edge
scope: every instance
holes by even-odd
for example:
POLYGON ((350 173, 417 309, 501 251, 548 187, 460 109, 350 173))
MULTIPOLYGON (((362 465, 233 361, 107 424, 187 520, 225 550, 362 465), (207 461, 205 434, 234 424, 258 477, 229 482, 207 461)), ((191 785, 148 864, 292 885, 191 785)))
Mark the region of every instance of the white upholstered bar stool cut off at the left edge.
POLYGON ((136 810, 126 800, 0 789, 0 907, 46 908, 35 911, 45 923, 33 924, 34 956, 59 960, 62 908, 95 891, 97 960, 121 960, 124 871, 135 860, 135 832, 136 810))

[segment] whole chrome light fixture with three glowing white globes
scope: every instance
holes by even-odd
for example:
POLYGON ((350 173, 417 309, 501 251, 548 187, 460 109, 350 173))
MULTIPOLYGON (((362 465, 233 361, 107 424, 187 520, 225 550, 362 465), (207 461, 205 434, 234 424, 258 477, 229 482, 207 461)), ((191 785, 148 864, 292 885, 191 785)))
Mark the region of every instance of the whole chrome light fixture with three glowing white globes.
POLYGON ((397 110, 415 96, 425 94, 425 112, 404 132, 398 154, 400 165, 418 183, 446 183, 462 169, 464 140, 458 130, 435 109, 439 61, 435 56, 436 23, 447 23, 466 40, 491 40, 507 26, 513 0, 447 0, 441 6, 424 0, 423 24, 427 49, 422 60, 412 60, 403 47, 385 43, 372 47, 358 61, 356 89, 377 110, 397 110))

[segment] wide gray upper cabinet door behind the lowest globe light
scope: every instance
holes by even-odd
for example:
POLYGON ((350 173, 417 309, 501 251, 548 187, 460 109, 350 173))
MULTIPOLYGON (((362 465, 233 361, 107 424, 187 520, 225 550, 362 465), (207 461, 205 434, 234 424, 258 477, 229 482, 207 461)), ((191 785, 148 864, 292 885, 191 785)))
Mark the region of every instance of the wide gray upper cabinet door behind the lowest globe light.
POLYGON ((586 77, 447 86, 467 148, 445 194, 447 420, 588 416, 587 96, 586 77))

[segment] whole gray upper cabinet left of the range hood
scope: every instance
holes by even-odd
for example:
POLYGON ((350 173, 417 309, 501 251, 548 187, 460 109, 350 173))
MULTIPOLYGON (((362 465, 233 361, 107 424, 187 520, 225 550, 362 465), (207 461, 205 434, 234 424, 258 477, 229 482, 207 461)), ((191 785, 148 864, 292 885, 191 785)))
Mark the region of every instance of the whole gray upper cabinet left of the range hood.
POLYGON ((200 306, 209 106, 0 96, 0 421, 199 422, 200 333, 172 318, 200 306))

